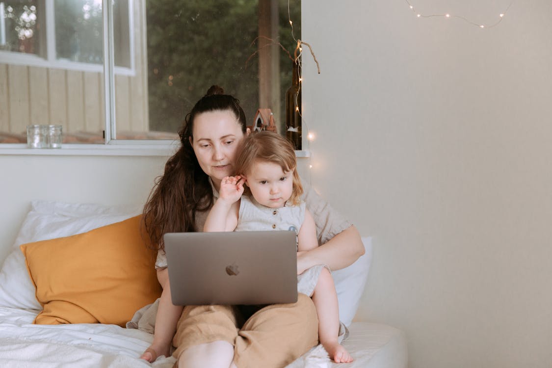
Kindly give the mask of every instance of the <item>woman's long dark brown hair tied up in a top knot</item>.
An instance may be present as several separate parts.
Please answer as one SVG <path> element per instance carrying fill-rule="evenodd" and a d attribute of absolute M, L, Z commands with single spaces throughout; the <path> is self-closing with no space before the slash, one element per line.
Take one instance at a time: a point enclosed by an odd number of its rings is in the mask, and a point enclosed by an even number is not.
<path fill-rule="evenodd" d="M 232 111 L 236 116 L 245 134 L 246 118 L 240 101 L 224 94 L 224 90 L 218 86 L 209 88 L 186 115 L 184 124 L 178 131 L 181 147 L 168 159 L 163 175 L 156 178 L 142 213 L 142 224 L 154 249 L 164 250 L 163 234 L 197 231 L 196 213 L 213 206 L 213 189 L 209 176 L 199 166 L 189 138 L 193 138 L 196 115 L 226 110 Z"/>

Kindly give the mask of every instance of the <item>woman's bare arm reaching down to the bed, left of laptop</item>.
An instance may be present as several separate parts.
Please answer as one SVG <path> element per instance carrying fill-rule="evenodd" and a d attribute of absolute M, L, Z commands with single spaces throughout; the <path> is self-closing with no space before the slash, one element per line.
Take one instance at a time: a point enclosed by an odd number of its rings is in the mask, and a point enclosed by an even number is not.
<path fill-rule="evenodd" d="M 171 286 L 167 269 L 157 271 L 157 279 L 163 287 L 159 308 L 155 316 L 155 330 L 153 332 L 153 343 L 142 353 L 140 359 L 153 362 L 158 356 L 169 356 L 171 353 L 171 342 L 176 332 L 176 324 L 182 314 L 182 306 L 175 306 L 171 300 Z M 153 354 L 153 352 L 155 354 Z"/>

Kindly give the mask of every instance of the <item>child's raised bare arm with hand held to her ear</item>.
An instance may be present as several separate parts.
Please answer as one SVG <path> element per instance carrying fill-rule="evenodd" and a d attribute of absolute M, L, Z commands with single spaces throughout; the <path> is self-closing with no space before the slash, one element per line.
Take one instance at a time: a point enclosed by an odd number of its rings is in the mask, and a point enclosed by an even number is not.
<path fill-rule="evenodd" d="M 203 231 L 233 231 L 238 221 L 240 198 L 243 194 L 243 179 L 225 177 L 221 180 L 219 199 L 209 211 Z"/>

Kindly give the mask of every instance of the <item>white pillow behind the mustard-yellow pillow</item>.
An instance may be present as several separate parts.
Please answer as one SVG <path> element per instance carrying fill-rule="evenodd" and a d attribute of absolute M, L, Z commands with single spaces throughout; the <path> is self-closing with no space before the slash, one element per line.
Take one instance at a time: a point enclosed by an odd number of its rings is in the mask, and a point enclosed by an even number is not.
<path fill-rule="evenodd" d="M 12 253 L 0 270 L 0 306 L 41 310 L 35 288 L 19 249 L 21 244 L 55 239 L 90 231 L 139 215 L 142 206 L 102 206 L 33 201 L 19 230 Z M 70 260 L 67 260 L 70 262 Z"/>

